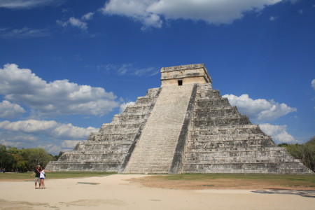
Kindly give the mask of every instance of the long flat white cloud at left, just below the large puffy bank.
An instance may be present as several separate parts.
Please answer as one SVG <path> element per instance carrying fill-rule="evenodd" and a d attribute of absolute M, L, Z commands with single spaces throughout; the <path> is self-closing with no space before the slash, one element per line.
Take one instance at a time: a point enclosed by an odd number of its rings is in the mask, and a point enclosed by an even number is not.
<path fill-rule="evenodd" d="M 91 132 L 97 132 L 94 127 L 76 127 L 69 124 L 57 123 L 55 120 L 20 120 L 0 122 L 0 129 L 22 132 L 26 134 L 42 134 L 46 137 L 85 139 Z"/>

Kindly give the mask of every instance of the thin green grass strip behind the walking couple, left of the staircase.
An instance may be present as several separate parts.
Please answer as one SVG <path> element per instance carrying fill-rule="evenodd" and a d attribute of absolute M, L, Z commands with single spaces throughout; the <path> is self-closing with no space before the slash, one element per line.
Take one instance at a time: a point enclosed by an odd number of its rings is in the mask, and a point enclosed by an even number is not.
<path fill-rule="evenodd" d="M 33 172 L 26 173 L 0 173 L 0 181 L 4 180 L 22 180 L 31 179 Z M 47 172 L 46 178 L 48 179 L 67 179 L 67 178 L 81 178 L 88 176 L 108 176 L 111 174 L 116 174 L 114 172 Z M 34 176 L 32 176 L 34 178 Z"/>

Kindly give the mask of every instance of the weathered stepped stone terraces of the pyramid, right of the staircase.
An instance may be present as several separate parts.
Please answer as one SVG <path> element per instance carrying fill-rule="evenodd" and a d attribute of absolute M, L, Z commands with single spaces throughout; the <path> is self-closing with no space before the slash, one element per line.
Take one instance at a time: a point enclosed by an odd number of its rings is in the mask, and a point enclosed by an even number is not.
<path fill-rule="evenodd" d="M 209 84 L 198 85 L 191 120 L 183 173 L 310 172 Z"/>

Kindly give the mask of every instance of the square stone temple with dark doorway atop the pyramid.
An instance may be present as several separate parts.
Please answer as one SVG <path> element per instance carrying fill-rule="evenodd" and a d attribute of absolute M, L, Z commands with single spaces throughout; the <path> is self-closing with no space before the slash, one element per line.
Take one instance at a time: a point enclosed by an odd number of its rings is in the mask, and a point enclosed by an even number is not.
<path fill-rule="evenodd" d="M 188 83 L 212 83 L 204 64 L 163 67 L 161 69 L 161 87 Z"/>

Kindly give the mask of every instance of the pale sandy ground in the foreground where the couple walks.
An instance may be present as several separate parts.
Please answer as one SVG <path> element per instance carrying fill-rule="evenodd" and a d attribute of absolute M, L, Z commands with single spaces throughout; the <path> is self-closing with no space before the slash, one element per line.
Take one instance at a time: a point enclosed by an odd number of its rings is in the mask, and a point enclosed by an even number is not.
<path fill-rule="evenodd" d="M 117 174 L 81 179 L 0 182 L 0 209 L 314 209 L 315 191 L 148 188 Z M 91 184 L 97 183 L 97 184 Z"/>

